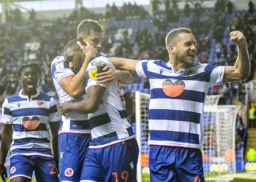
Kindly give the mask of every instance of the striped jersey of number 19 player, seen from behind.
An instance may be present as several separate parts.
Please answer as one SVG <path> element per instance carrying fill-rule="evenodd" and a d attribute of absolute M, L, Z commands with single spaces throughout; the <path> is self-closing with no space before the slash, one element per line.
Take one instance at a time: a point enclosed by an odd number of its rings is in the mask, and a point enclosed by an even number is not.
<path fill-rule="evenodd" d="M 87 68 L 86 90 L 89 87 L 99 85 L 95 79 L 89 76 L 90 71 L 95 69 L 94 63 L 98 61 L 102 61 L 114 68 L 108 58 L 100 56 L 91 60 Z M 100 86 L 104 87 L 103 85 Z M 127 120 L 125 106 L 120 97 L 123 93 L 122 87 L 118 82 L 111 84 L 106 88 L 102 96 L 102 103 L 99 109 L 94 114 L 89 114 L 92 138 L 89 148 L 102 148 L 134 138 L 132 126 Z"/>

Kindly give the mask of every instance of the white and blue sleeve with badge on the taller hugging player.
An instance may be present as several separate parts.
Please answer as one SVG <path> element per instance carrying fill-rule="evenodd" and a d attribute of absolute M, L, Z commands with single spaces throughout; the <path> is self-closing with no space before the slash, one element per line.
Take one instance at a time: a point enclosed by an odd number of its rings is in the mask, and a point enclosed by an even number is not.
<path fill-rule="evenodd" d="M 64 79 L 67 76 L 74 76 L 75 73 L 69 68 L 67 61 L 64 60 L 63 56 L 59 56 L 53 60 L 51 65 L 51 74 L 57 82 Z"/>

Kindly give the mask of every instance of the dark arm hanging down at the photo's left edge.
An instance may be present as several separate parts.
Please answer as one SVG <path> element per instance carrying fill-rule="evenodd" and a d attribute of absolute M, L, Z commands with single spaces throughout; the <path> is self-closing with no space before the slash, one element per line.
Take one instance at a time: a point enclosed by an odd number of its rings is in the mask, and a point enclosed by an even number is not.
<path fill-rule="evenodd" d="M 12 124 L 4 124 L 1 133 L 1 149 L 0 149 L 0 175 L 3 181 L 7 179 L 7 170 L 4 162 L 12 143 Z"/>

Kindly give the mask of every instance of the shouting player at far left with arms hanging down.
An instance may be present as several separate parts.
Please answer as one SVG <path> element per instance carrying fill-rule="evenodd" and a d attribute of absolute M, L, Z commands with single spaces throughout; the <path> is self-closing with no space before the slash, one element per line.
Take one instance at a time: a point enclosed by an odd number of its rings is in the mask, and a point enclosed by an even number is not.
<path fill-rule="evenodd" d="M 0 152 L 0 173 L 7 178 L 4 161 L 11 145 L 10 181 L 59 181 L 56 163 L 58 129 L 61 116 L 56 101 L 37 90 L 40 68 L 35 63 L 21 66 L 22 90 L 4 100 L 1 122 L 4 124 Z M 53 154 L 50 147 L 50 133 Z"/>

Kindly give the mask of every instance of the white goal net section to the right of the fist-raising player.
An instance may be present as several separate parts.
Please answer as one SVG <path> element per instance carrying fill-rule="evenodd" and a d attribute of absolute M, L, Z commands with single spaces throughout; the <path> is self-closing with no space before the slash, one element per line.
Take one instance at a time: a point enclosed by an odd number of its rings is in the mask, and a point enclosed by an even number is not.
<path fill-rule="evenodd" d="M 203 170 L 206 181 L 231 181 L 236 173 L 236 114 L 239 106 L 205 106 Z"/>

